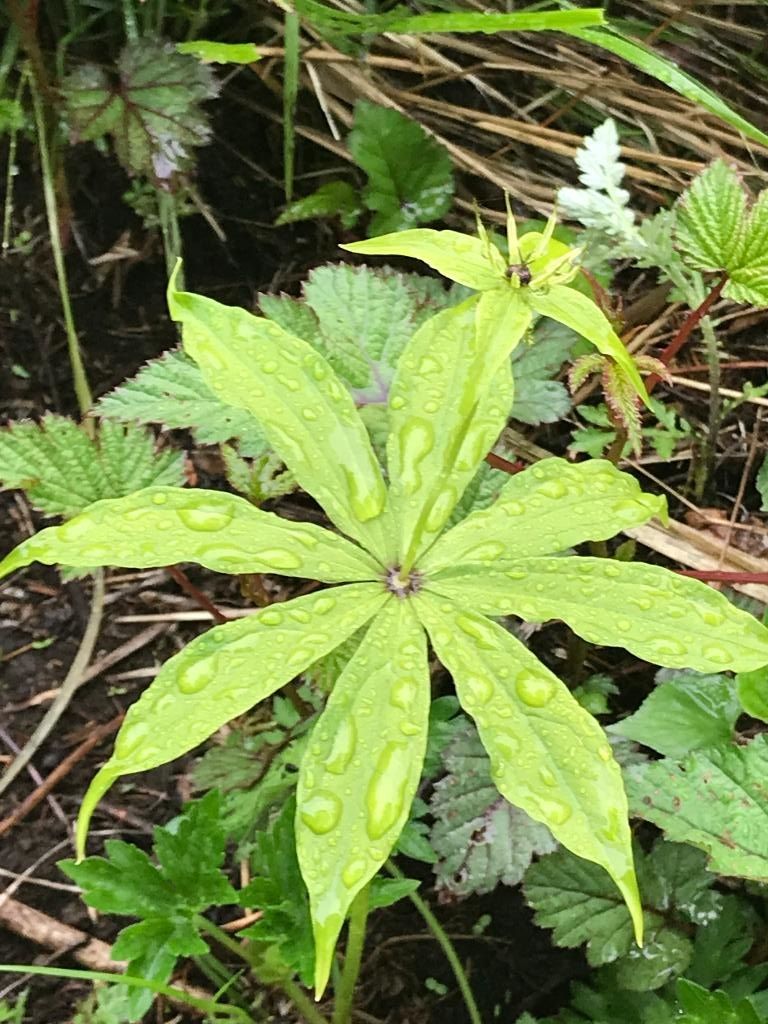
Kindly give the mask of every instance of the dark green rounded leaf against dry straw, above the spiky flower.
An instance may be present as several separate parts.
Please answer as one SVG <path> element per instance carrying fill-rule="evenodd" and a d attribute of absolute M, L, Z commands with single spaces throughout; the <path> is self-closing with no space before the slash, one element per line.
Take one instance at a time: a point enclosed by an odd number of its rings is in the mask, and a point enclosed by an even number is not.
<path fill-rule="evenodd" d="M 375 212 L 370 234 L 439 220 L 451 209 L 451 157 L 416 121 L 390 108 L 358 100 L 347 145 L 368 175 L 362 199 Z"/>

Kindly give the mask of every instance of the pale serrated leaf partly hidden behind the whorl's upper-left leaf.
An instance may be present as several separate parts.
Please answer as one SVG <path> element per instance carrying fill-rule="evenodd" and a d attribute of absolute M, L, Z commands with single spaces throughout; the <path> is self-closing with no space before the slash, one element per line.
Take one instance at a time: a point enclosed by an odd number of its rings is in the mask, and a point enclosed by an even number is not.
<path fill-rule="evenodd" d="M 160 423 L 191 430 L 201 444 L 237 439 L 244 456 L 260 455 L 266 447 L 256 417 L 221 401 L 197 364 L 181 351 L 172 350 L 147 362 L 133 380 L 104 395 L 96 412 L 124 423 Z"/>

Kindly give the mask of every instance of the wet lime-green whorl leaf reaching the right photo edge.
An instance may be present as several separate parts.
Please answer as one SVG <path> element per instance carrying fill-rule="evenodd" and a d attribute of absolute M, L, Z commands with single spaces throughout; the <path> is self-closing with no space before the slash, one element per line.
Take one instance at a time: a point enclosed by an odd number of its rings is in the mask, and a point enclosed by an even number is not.
<path fill-rule="evenodd" d="M 754 615 L 658 565 L 521 558 L 503 571 L 477 568 L 445 570 L 430 587 L 487 615 L 561 618 L 590 643 L 624 647 L 670 669 L 738 672 L 768 662 L 768 630 Z"/>

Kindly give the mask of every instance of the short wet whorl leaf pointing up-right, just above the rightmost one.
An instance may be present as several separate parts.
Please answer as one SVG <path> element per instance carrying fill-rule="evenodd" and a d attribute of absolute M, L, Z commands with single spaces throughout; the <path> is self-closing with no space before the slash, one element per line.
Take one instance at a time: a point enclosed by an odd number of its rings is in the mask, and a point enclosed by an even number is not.
<path fill-rule="evenodd" d="M 511 476 L 497 501 L 445 534 L 423 560 L 431 573 L 462 562 L 499 567 L 500 559 L 551 554 L 583 541 L 605 541 L 654 515 L 666 501 L 604 460 L 544 459 Z"/>

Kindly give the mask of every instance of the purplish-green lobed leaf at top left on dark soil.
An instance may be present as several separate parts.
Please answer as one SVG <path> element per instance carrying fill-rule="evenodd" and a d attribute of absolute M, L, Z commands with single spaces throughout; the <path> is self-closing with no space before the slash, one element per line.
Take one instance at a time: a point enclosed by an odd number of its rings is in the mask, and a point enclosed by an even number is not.
<path fill-rule="evenodd" d="M 201 103 L 218 93 L 210 70 L 172 43 L 140 39 L 118 58 L 119 83 L 83 65 L 61 83 L 66 118 L 77 139 L 111 135 L 132 175 L 167 181 L 191 166 L 193 151 L 211 137 Z"/>

